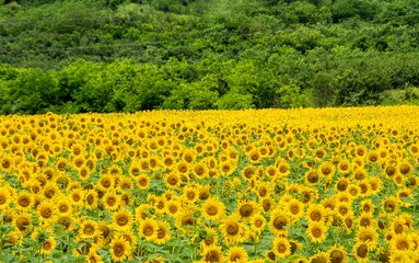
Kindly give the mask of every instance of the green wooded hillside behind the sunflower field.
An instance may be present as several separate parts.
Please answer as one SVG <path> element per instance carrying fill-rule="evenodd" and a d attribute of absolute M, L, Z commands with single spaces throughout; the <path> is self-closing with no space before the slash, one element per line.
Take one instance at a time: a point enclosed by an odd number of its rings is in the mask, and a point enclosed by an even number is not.
<path fill-rule="evenodd" d="M 0 113 L 417 103 L 417 0 L 0 0 Z"/>

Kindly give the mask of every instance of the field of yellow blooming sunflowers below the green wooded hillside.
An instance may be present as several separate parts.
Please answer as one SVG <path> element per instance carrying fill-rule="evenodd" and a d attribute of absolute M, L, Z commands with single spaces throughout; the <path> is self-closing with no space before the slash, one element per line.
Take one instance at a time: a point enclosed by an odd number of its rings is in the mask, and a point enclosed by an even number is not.
<path fill-rule="evenodd" d="M 1 262 L 419 262 L 419 107 L 0 117 Z"/>

